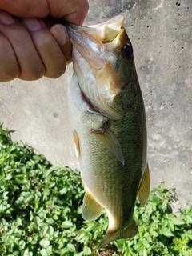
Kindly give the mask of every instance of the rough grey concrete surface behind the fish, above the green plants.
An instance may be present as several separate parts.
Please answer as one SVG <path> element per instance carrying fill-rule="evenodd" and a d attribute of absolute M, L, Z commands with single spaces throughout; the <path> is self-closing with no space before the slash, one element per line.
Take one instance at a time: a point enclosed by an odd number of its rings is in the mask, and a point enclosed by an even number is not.
<path fill-rule="evenodd" d="M 146 105 L 152 187 L 165 181 L 182 206 L 192 204 L 191 0 L 90 0 L 85 24 L 125 16 Z M 79 168 L 67 110 L 72 67 L 57 80 L 0 83 L 0 122 L 13 140 L 50 162 Z"/>

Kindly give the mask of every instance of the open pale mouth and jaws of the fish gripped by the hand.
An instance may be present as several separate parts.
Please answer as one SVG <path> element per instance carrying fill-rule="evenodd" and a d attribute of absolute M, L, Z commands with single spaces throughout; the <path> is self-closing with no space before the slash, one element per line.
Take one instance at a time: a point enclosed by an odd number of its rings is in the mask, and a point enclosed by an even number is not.
<path fill-rule="evenodd" d="M 66 22 L 66 29 L 74 48 L 91 66 L 101 69 L 106 65 L 104 51 L 110 52 L 118 46 L 118 35 L 122 33 L 123 21 L 123 16 L 119 15 L 93 26 L 77 26 Z"/>

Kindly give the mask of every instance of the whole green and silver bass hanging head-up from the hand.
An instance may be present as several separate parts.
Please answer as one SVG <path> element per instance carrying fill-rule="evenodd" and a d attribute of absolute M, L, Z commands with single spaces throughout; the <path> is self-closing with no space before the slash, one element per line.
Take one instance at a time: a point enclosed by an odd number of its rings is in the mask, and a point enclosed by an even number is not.
<path fill-rule="evenodd" d="M 74 74 L 69 110 L 85 194 L 82 217 L 106 210 L 109 226 L 98 249 L 138 233 L 134 206 L 150 193 L 146 114 L 134 50 L 118 15 L 93 26 L 66 23 Z"/>

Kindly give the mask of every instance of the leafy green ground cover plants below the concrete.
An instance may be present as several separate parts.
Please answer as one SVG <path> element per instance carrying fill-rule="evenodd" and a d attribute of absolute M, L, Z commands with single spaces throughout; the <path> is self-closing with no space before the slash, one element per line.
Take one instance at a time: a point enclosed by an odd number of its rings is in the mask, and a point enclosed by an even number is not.
<path fill-rule="evenodd" d="M 41 154 L 12 142 L 0 127 L 0 255 L 192 256 L 192 208 L 172 213 L 173 190 L 158 186 L 146 207 L 136 203 L 138 234 L 97 250 L 106 214 L 85 222 L 78 170 L 52 166 Z"/>

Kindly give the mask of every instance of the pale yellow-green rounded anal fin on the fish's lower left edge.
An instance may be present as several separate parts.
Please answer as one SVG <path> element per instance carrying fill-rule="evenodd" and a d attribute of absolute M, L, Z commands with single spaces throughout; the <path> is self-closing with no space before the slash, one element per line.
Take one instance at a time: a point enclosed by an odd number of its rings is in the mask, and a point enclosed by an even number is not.
<path fill-rule="evenodd" d="M 86 190 L 82 204 L 82 218 L 85 220 L 95 220 L 101 214 L 102 206 L 95 201 L 93 195 L 90 194 L 90 191 Z"/>

